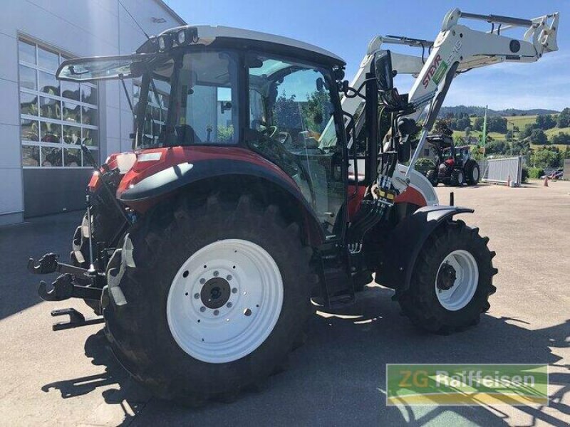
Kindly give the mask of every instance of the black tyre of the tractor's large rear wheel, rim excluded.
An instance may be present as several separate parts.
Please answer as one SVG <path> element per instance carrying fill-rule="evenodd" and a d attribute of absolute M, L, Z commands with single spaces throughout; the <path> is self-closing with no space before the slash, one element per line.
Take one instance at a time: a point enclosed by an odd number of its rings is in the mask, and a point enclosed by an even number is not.
<path fill-rule="evenodd" d="M 127 304 L 115 301 L 113 292 L 103 297 L 108 339 L 121 364 L 155 396 L 189 406 L 232 400 L 282 370 L 291 349 L 303 342 L 314 312 L 312 249 L 303 245 L 298 224 L 286 224 L 276 206 L 264 208 L 249 196 L 233 202 L 209 196 L 199 204 L 181 198 L 162 207 L 125 239 L 125 248 L 132 242 L 136 267 L 129 266 L 123 249 L 124 274 L 116 279 Z M 283 279 L 283 305 L 274 329 L 257 349 L 232 362 L 207 363 L 191 357 L 172 337 L 167 295 L 190 255 L 226 238 L 257 243 L 274 258 Z M 110 282 L 118 271 L 113 264 L 117 266 L 115 257 L 108 270 Z"/>

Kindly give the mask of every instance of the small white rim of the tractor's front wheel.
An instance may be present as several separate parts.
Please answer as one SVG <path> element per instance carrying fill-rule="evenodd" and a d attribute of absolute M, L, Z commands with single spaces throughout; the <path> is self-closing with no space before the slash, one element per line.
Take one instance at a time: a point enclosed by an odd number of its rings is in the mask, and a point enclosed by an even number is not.
<path fill-rule="evenodd" d="M 451 288 L 442 290 L 437 287 L 437 279 L 440 276 L 442 265 L 448 264 L 455 269 L 455 281 Z M 472 300 L 479 283 L 479 268 L 477 261 L 471 253 L 462 249 L 453 251 L 447 255 L 435 277 L 435 295 L 442 307 L 446 310 L 461 310 Z"/>

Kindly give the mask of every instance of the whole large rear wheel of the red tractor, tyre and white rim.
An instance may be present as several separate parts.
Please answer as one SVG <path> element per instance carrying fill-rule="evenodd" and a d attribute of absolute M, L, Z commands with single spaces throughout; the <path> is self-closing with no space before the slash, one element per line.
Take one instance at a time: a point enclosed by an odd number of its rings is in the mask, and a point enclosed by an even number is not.
<path fill-rule="evenodd" d="M 304 334 L 312 251 L 296 223 L 249 196 L 162 207 L 110 261 L 113 351 L 159 397 L 233 399 L 279 371 Z"/>

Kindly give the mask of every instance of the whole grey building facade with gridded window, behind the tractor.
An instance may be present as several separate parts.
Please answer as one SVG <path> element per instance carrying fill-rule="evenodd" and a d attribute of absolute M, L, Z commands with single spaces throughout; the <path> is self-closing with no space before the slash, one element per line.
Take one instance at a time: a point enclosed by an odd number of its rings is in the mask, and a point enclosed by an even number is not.
<path fill-rule="evenodd" d="M 60 82 L 59 64 L 132 53 L 146 38 L 138 25 L 152 35 L 185 23 L 160 0 L 11 0 L 3 11 L 0 225 L 84 206 L 92 169 L 81 141 L 99 162 L 130 149 L 120 82 Z"/>

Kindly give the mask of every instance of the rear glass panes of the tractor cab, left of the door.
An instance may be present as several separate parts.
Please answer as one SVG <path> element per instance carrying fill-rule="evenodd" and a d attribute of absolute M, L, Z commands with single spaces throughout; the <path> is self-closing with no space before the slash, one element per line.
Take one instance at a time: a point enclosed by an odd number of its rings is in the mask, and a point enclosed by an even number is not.
<path fill-rule="evenodd" d="M 147 70 L 135 91 L 136 146 L 237 143 L 237 55 L 179 53 Z"/>

